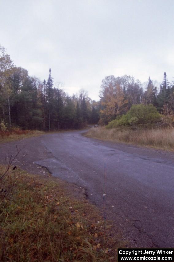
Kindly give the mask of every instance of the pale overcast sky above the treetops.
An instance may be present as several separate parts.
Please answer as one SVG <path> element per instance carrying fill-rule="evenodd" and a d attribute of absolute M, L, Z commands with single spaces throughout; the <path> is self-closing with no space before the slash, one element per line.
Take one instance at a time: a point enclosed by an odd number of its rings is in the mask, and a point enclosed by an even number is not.
<path fill-rule="evenodd" d="M 0 44 L 31 76 L 98 100 L 105 76 L 174 77 L 174 0 L 0 0 Z"/>

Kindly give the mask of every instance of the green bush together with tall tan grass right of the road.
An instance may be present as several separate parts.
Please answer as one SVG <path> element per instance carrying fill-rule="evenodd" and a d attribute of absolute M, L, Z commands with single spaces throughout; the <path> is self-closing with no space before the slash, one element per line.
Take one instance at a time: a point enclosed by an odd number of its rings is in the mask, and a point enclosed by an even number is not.
<path fill-rule="evenodd" d="M 167 106 L 159 114 L 152 104 L 140 104 L 105 127 L 91 128 L 86 136 L 174 151 L 173 124 L 174 115 Z"/>

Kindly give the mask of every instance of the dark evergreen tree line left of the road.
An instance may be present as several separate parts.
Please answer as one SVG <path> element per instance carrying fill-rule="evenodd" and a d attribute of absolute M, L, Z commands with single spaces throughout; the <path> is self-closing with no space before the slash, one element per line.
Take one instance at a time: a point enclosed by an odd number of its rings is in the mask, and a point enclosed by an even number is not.
<path fill-rule="evenodd" d="M 43 82 L 28 71 L 14 66 L 0 46 L 0 122 L 22 129 L 79 129 L 99 121 L 98 104 L 80 90 L 68 96 L 58 83 L 55 87 L 49 69 Z"/>

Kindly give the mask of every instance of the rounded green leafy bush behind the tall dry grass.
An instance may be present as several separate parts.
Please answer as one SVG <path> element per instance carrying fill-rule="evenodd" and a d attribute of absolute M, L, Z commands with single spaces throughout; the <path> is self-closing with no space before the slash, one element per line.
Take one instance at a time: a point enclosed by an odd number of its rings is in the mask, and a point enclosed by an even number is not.
<path fill-rule="evenodd" d="M 134 104 L 126 115 L 122 115 L 120 119 L 115 119 L 108 123 L 107 128 L 113 128 L 124 125 L 156 123 L 161 119 L 157 108 L 153 104 Z"/>

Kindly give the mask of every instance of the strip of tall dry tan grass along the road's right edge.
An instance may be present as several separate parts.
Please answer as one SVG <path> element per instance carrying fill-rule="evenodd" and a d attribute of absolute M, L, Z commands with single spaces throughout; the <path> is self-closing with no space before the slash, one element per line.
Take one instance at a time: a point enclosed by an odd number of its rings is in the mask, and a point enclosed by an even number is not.
<path fill-rule="evenodd" d="M 174 128 L 157 129 L 106 129 L 105 127 L 91 128 L 88 137 L 124 142 L 135 145 L 145 145 L 164 150 L 174 150 Z"/>

